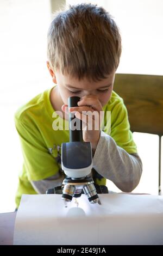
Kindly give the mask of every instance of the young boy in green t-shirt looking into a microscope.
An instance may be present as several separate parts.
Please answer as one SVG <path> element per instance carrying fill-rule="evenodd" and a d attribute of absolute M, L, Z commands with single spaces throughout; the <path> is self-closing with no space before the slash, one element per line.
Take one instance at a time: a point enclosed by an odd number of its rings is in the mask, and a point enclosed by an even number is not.
<path fill-rule="evenodd" d="M 19 176 L 16 205 L 21 195 L 45 193 L 61 186 L 61 143 L 69 141 L 66 130 L 67 99 L 79 96 L 78 107 L 69 109 L 86 125 L 83 111 L 111 111 L 111 127 L 83 129 L 91 142 L 92 175 L 96 184 L 106 179 L 125 192 L 139 184 L 142 163 L 123 100 L 112 89 L 121 56 L 121 36 L 111 16 L 92 4 L 79 4 L 57 14 L 48 30 L 47 67 L 55 86 L 37 95 L 15 114 L 22 144 L 23 169 Z M 54 129 L 55 112 L 64 130 Z"/>

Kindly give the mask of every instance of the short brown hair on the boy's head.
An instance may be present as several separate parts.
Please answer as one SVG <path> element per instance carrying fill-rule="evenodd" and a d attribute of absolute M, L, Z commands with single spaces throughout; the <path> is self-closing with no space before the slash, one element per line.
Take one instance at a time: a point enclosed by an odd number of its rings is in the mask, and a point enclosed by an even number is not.
<path fill-rule="evenodd" d="M 118 27 L 102 7 L 78 4 L 55 14 L 47 38 L 47 58 L 54 71 L 99 81 L 117 69 L 120 56 Z"/>

